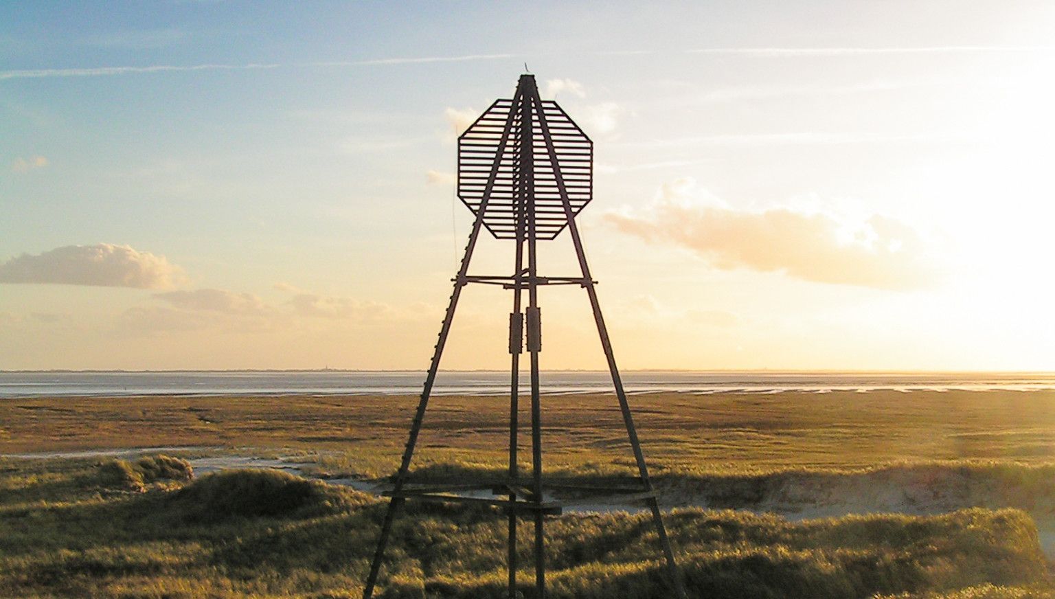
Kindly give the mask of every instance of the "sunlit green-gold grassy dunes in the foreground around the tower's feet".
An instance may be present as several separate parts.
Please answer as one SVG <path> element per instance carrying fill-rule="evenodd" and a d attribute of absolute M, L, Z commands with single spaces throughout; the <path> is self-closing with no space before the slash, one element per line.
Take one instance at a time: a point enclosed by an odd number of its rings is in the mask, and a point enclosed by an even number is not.
<path fill-rule="evenodd" d="M 103 467 L 92 460 L 0 460 L 0 596 L 362 592 L 384 508 L 370 496 L 271 470 L 108 494 L 99 489 L 112 481 L 100 476 Z M 114 484 L 112 490 L 123 489 L 122 481 Z M 382 597 L 501 597 L 499 514 L 415 503 L 406 509 L 394 528 Z M 1050 588 L 1036 528 L 1013 509 L 799 523 L 678 509 L 667 523 L 694 597 L 868 597 L 986 584 L 1004 594 L 977 597 L 1017 597 L 1010 594 L 1016 587 Z M 530 539 L 530 526 L 520 534 Z M 669 594 L 645 515 L 565 515 L 550 519 L 546 535 L 554 598 Z M 530 573 L 520 580 L 530 596 Z"/>

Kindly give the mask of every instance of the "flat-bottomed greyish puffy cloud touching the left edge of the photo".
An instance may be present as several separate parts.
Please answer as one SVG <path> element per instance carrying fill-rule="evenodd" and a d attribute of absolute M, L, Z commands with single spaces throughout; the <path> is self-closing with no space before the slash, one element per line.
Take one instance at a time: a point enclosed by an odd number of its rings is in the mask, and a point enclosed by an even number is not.
<path fill-rule="evenodd" d="M 0 283 L 166 289 L 180 278 L 183 271 L 165 256 L 113 244 L 64 246 L 0 264 Z"/>

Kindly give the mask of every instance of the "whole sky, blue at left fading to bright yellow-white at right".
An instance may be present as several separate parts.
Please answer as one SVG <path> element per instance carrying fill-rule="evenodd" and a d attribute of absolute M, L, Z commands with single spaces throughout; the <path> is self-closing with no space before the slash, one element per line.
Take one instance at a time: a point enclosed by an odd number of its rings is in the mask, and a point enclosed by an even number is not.
<path fill-rule="evenodd" d="M 424 369 L 457 135 L 594 140 L 622 368 L 1055 370 L 1050 1 L 0 4 L 0 369 Z M 471 273 L 509 274 L 481 239 Z M 576 275 L 568 234 L 541 274 Z M 507 367 L 469 286 L 441 366 Z M 605 361 L 542 290 L 546 369 Z"/>

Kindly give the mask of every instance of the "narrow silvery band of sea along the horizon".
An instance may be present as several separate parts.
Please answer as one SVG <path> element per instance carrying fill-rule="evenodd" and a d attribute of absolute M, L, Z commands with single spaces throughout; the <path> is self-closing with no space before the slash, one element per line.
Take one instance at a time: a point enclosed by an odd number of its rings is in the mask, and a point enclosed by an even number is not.
<path fill-rule="evenodd" d="M 629 370 L 629 393 L 780 393 L 1055 389 L 1055 372 L 778 372 Z M 554 370 L 540 375 L 546 394 L 611 391 L 607 371 Z M 166 370 L 0 371 L 0 398 L 141 395 L 419 394 L 425 372 L 414 370 Z M 520 373 L 521 392 L 528 375 Z M 434 394 L 501 395 L 510 373 L 441 371 Z"/>

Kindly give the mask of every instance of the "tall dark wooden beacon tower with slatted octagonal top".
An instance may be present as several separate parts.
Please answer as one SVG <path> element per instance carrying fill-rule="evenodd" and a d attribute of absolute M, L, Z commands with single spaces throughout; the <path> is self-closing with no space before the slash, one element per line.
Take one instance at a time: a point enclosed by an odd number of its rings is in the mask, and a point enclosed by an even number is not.
<path fill-rule="evenodd" d="M 363 592 L 370 599 L 378 580 L 385 545 L 392 520 L 407 500 L 434 502 L 467 502 L 493 505 L 509 516 L 509 597 L 517 597 L 517 518 L 534 519 L 534 597 L 545 597 L 544 517 L 559 515 L 561 508 L 577 503 L 596 503 L 619 498 L 621 501 L 645 502 L 652 511 L 672 588 L 684 597 L 682 579 L 674 562 L 670 540 L 659 513 L 656 492 L 652 488 L 645 456 L 634 428 L 627 393 L 615 364 L 612 344 L 597 303 L 596 282 L 582 250 L 582 240 L 575 216 L 593 196 L 593 141 L 555 101 L 542 100 L 534 75 L 522 75 L 512 99 L 496 100 L 458 138 L 458 196 L 473 212 L 475 219 L 468 245 L 454 278 L 454 292 L 440 328 L 439 341 L 433 353 L 424 389 L 418 404 L 410 434 L 399 470 L 392 478 L 391 499 L 381 525 L 377 549 Z M 514 241 L 513 274 L 507 276 L 471 275 L 469 262 L 482 230 L 499 239 Z M 578 257 L 579 274 L 574 276 L 540 276 L 536 265 L 536 245 L 555 238 L 568 229 Z M 510 314 L 510 443 L 506 478 L 491 481 L 408 482 L 407 475 L 414 457 L 418 433 L 428 406 L 428 399 L 440 367 L 455 308 L 462 289 L 468 284 L 498 285 L 513 291 Z M 539 393 L 539 352 L 542 350 L 539 287 L 577 285 L 586 289 L 593 309 L 601 349 L 612 374 L 615 395 L 630 438 L 637 464 L 637 477 L 631 484 L 619 486 L 574 485 L 548 483 L 542 476 L 542 406 Z M 526 307 L 524 292 L 526 291 Z M 520 400 L 520 356 L 524 341 L 531 372 L 531 434 L 532 471 L 520 472 L 517 463 Z M 469 491 L 491 490 L 493 498 L 469 496 Z M 561 499 L 548 499 L 548 491 L 558 491 Z"/>

